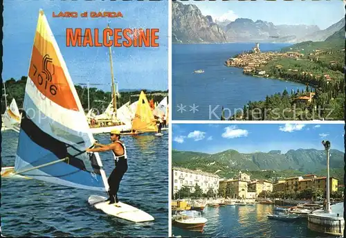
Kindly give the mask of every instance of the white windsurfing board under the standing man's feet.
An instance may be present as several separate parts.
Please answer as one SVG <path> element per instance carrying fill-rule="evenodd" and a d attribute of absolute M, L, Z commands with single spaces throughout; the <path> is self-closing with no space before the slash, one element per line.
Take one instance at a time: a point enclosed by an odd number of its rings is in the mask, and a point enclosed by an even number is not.
<path fill-rule="evenodd" d="M 104 213 L 110 214 L 111 216 L 125 219 L 127 221 L 133 222 L 144 222 L 144 221 L 154 221 L 152 215 L 143 212 L 138 208 L 134 208 L 131 205 L 126 203 L 119 202 L 119 207 L 116 207 L 114 204 L 108 204 L 106 202 L 107 198 L 104 196 L 91 195 L 89 196 L 88 202 L 90 205 L 93 205 L 94 208 L 102 210 Z"/>

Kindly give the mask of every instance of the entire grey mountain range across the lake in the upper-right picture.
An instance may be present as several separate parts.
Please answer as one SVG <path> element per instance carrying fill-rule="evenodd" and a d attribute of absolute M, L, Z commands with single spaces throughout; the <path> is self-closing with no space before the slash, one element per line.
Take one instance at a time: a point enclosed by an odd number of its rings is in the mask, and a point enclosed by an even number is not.
<path fill-rule="evenodd" d="M 173 43 L 321 42 L 345 26 L 345 18 L 321 30 L 313 25 L 274 25 L 268 21 L 238 18 L 218 21 L 203 16 L 193 4 L 172 2 Z"/>

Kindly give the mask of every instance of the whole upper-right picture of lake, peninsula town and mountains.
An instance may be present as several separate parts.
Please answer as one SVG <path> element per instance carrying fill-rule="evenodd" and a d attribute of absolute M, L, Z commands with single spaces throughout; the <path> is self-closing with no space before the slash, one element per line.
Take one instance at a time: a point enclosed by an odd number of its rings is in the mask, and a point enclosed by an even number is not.
<path fill-rule="evenodd" d="M 173 1 L 172 118 L 343 120 L 344 28 L 343 1 Z"/>

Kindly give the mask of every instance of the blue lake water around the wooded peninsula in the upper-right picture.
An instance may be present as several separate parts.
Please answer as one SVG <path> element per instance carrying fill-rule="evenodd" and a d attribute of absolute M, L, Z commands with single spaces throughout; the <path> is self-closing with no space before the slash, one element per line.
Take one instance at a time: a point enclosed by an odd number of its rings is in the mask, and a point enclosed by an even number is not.
<path fill-rule="evenodd" d="M 219 120 L 221 107 L 243 109 L 249 101 L 264 100 L 266 95 L 286 89 L 305 89 L 303 84 L 285 80 L 253 77 L 242 68 L 224 63 L 254 44 L 173 44 L 172 45 L 172 118 L 174 120 Z M 289 44 L 260 44 L 261 51 L 280 51 Z M 204 73 L 193 73 L 203 69 Z M 178 111 L 183 105 L 185 111 Z M 178 107 L 179 105 L 179 107 Z M 198 111 L 192 111 L 193 105 Z M 214 113 L 215 114 L 214 114 Z M 216 115 L 216 116 L 215 116 Z M 229 115 L 226 115 L 228 117 Z"/>

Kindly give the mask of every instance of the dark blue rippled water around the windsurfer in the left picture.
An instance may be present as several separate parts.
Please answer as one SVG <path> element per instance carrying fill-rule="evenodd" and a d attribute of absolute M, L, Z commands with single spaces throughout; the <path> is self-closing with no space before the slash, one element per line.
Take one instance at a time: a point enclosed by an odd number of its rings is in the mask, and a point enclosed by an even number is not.
<path fill-rule="evenodd" d="M 110 217 L 87 202 L 91 194 L 43 181 L 1 179 L 1 230 L 5 236 L 168 236 L 168 134 L 123 136 L 129 169 L 122 178 L 120 201 L 151 214 L 155 221 L 132 223 Z M 110 143 L 108 135 L 96 135 Z M 18 134 L 2 133 L 2 166 L 13 166 Z M 111 152 L 100 154 L 107 175 L 113 170 Z"/>

